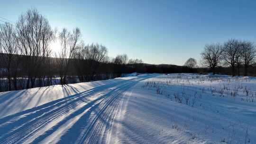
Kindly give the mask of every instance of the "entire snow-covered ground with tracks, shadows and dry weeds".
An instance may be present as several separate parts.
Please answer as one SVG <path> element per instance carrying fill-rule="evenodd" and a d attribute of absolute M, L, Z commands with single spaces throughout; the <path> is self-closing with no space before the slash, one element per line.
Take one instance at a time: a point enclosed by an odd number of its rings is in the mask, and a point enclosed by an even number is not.
<path fill-rule="evenodd" d="M 256 78 L 132 74 L 0 93 L 0 144 L 256 144 Z"/>

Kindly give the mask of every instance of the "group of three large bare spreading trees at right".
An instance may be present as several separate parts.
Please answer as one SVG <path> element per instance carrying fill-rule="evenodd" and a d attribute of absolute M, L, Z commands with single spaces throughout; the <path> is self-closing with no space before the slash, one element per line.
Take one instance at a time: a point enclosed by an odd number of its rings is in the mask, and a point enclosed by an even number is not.
<path fill-rule="evenodd" d="M 213 74 L 218 66 L 231 67 L 232 76 L 240 73 L 244 67 L 244 76 L 247 76 L 248 67 L 255 63 L 256 47 L 252 42 L 230 39 L 224 44 L 205 45 L 201 53 L 201 63 L 211 69 Z"/>

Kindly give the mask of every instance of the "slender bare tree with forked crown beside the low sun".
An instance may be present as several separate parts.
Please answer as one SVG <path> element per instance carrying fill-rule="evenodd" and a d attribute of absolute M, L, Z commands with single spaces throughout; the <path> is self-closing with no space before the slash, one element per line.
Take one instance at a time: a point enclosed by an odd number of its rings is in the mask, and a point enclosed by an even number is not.
<path fill-rule="evenodd" d="M 76 49 L 79 48 L 81 40 L 81 31 L 79 28 L 75 28 L 73 33 L 63 28 L 59 34 L 59 40 L 61 44 L 60 51 L 55 54 L 58 63 L 59 75 L 61 78 L 61 84 L 66 84 L 66 77 L 68 72 L 69 63 Z"/>

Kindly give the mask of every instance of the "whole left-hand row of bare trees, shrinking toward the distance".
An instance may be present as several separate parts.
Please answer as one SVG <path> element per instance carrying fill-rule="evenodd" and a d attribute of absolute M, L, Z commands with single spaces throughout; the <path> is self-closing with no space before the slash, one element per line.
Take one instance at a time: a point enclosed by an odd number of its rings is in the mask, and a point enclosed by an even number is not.
<path fill-rule="evenodd" d="M 60 42 L 60 50 L 53 53 L 51 43 L 55 41 Z M 119 68 L 128 63 L 142 63 L 128 60 L 126 54 L 111 59 L 107 53 L 104 45 L 84 45 L 79 28 L 57 32 L 37 9 L 29 9 L 15 24 L 0 24 L 0 86 L 19 90 L 52 85 L 55 76 L 60 84 L 77 76 L 80 81 L 91 81 L 96 80 L 95 75 L 118 76 L 123 72 Z M 8 84 L 1 85 L 5 81 Z"/>

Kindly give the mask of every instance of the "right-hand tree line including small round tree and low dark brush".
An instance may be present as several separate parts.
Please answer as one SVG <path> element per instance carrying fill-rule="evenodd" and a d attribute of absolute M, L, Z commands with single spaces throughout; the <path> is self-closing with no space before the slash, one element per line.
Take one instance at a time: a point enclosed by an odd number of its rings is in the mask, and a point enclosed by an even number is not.
<path fill-rule="evenodd" d="M 198 73 L 256 76 L 256 45 L 250 41 L 230 39 L 223 44 L 205 45 L 201 52 L 201 67 L 194 58 L 184 66 Z"/>

